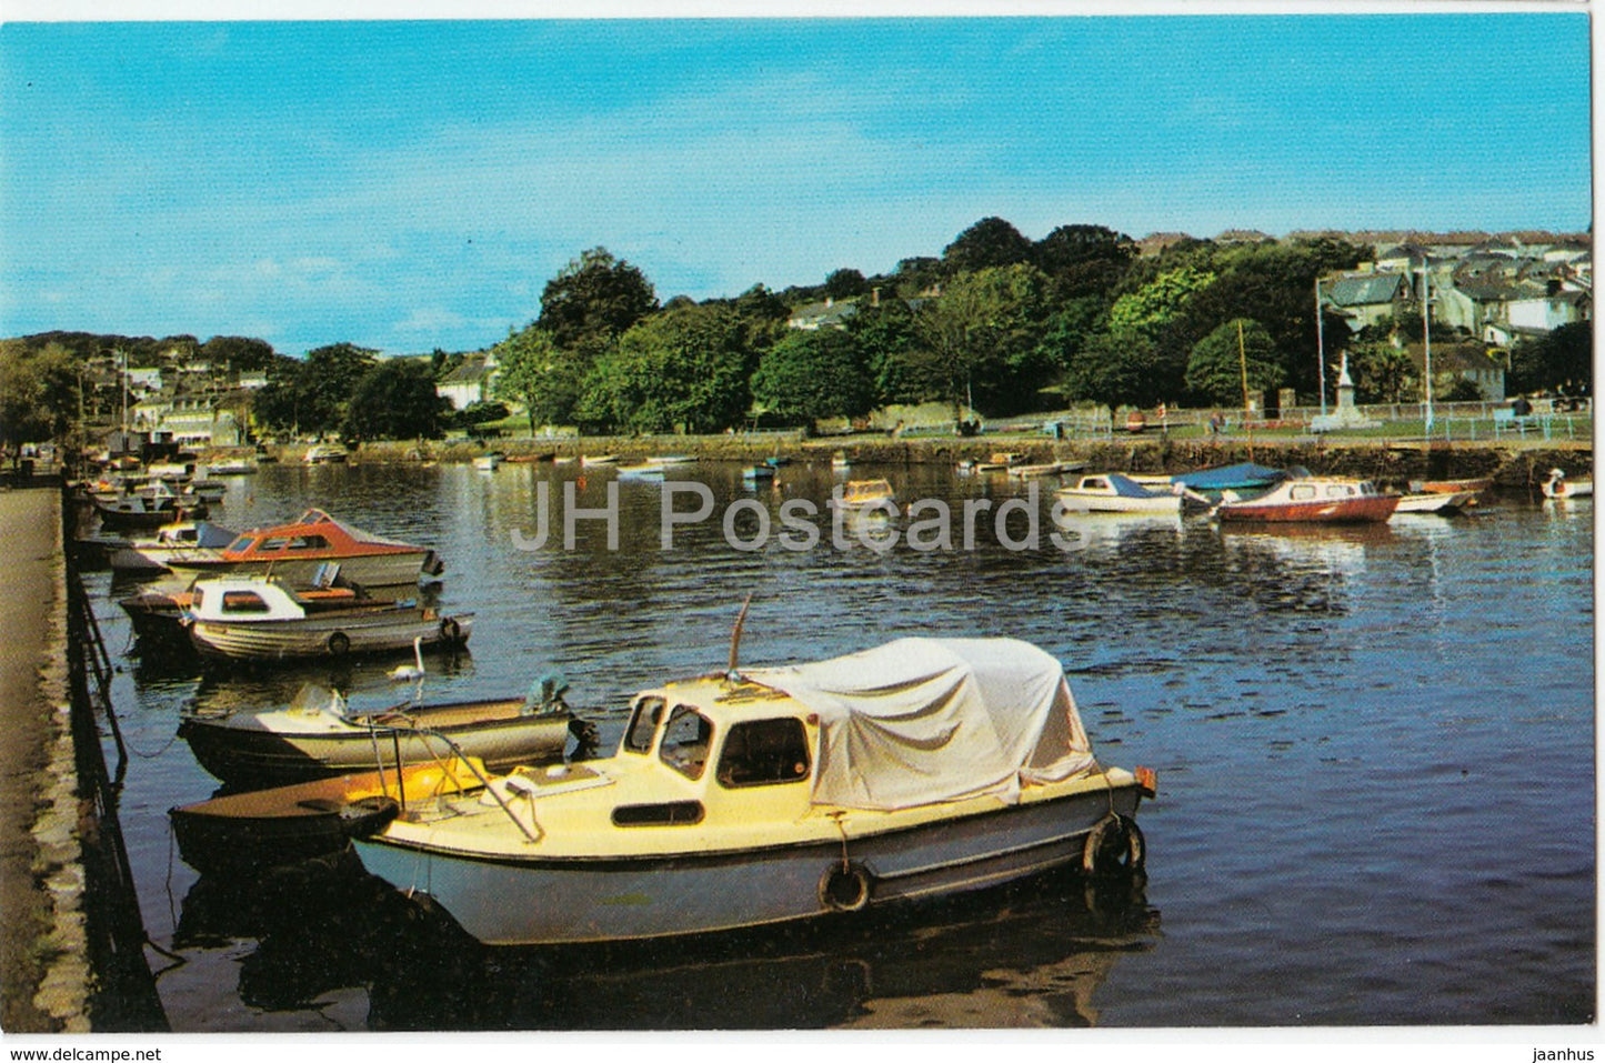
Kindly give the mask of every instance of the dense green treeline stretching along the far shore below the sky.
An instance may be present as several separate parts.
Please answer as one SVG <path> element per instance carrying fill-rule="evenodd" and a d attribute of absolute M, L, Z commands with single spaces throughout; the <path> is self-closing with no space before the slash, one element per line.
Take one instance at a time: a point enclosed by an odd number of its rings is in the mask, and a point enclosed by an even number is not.
<path fill-rule="evenodd" d="M 6 340 L 6 353 L 37 361 L 35 384 L 61 392 L 63 352 L 116 348 L 138 368 L 180 350 L 213 374 L 266 373 L 254 397 L 258 426 L 355 438 L 432 437 L 504 416 L 502 403 L 522 405 L 531 429 L 586 432 L 796 426 L 924 401 L 949 403 L 955 417 L 1075 403 L 1236 406 L 1244 369 L 1250 389 L 1318 392 L 1314 281 L 1369 257 L 1339 238 L 1181 239 L 1138 255 L 1130 236 L 1104 226 L 1064 225 L 1032 241 L 989 217 L 941 255 L 891 273 L 838 268 L 812 287 L 758 284 L 733 299 L 660 305 L 640 268 L 595 247 L 546 283 L 528 326 L 485 352 L 498 365 L 496 393 L 457 414 L 433 382 L 462 355 L 440 350 L 377 360 L 342 342 L 287 358 L 244 337 L 53 332 Z M 822 316 L 819 328 L 788 326 L 802 308 Z M 1361 401 L 1419 393 L 1409 358 L 1388 342 L 1409 320 L 1351 336 L 1329 313 L 1319 328 L 1329 373 L 1337 352 L 1350 352 Z M 1587 324 L 1557 329 L 1514 352 L 1509 387 L 1586 381 L 1589 352 Z"/>

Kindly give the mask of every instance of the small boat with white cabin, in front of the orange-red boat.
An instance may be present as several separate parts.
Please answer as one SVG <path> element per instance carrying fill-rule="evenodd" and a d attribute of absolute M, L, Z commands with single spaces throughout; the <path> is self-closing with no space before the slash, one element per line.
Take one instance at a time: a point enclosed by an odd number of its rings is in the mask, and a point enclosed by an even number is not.
<path fill-rule="evenodd" d="M 268 576 L 199 580 L 183 623 L 202 657 L 294 660 L 393 654 L 409 646 L 462 646 L 473 613 L 441 613 L 414 602 L 356 601 L 343 609 L 310 609 Z"/>

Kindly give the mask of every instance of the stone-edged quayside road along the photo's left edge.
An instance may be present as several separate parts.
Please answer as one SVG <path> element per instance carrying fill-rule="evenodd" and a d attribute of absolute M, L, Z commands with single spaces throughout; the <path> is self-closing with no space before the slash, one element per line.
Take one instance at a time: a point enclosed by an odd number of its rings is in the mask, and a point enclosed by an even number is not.
<path fill-rule="evenodd" d="M 0 1029 L 82 1029 L 87 968 L 75 936 L 75 830 L 63 629 L 61 495 L 0 490 Z M 63 777 L 63 768 L 67 777 Z"/>

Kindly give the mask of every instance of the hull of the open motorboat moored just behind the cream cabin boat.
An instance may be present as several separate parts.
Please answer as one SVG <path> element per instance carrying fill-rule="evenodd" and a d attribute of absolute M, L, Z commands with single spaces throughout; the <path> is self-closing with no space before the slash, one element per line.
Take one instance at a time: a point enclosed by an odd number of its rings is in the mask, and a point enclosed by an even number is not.
<path fill-rule="evenodd" d="M 379 764 L 395 771 L 398 763 L 432 764 L 453 751 L 491 771 L 562 758 L 573 716 L 522 713 L 522 698 L 425 705 L 388 723 L 376 721 L 372 729 L 327 731 L 266 731 L 252 727 L 250 715 L 188 716 L 178 737 L 209 774 L 228 784 L 300 782 Z"/>

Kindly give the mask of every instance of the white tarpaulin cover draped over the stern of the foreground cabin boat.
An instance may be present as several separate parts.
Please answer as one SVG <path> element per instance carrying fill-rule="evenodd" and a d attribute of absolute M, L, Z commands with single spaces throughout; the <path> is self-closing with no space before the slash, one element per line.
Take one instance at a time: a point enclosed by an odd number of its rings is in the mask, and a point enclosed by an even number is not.
<path fill-rule="evenodd" d="M 897 639 L 743 676 L 819 715 L 817 804 L 1018 800 L 1021 782 L 1093 766 L 1064 670 L 1018 639 Z"/>

